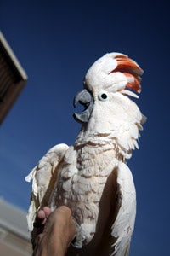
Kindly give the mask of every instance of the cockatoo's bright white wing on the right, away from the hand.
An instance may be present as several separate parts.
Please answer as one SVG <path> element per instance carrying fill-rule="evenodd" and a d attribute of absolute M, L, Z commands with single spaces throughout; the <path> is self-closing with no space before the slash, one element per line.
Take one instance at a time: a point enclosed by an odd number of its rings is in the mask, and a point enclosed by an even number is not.
<path fill-rule="evenodd" d="M 127 256 L 133 235 L 136 216 L 136 191 L 133 176 L 124 163 L 119 163 L 117 170 L 118 204 L 119 210 L 112 225 L 111 235 L 116 238 L 112 255 Z"/>

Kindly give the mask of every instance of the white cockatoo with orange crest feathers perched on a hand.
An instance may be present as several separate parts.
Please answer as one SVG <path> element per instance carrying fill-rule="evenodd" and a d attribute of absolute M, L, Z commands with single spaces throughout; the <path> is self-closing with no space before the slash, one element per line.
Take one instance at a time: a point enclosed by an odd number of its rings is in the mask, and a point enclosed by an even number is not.
<path fill-rule="evenodd" d="M 71 208 L 77 237 L 67 255 L 127 256 L 136 215 L 136 192 L 126 160 L 139 148 L 144 115 L 132 101 L 141 90 L 139 65 L 121 53 L 105 54 L 89 68 L 74 105 L 82 124 L 72 146 L 48 150 L 26 177 L 32 180 L 27 220 L 37 211 Z"/>

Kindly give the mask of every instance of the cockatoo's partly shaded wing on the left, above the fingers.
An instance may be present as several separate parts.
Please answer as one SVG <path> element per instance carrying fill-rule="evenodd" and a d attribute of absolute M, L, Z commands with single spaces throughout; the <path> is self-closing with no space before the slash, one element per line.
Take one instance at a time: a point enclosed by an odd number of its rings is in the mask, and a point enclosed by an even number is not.
<path fill-rule="evenodd" d="M 69 147 L 59 144 L 48 150 L 38 162 L 30 174 L 26 177 L 27 182 L 32 180 L 31 204 L 27 214 L 28 228 L 33 230 L 33 223 L 38 209 L 48 206 L 49 197 L 54 189 L 57 178 L 59 163 L 63 160 L 65 151 Z"/>

